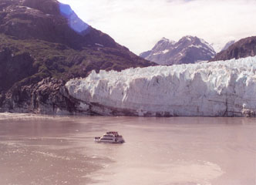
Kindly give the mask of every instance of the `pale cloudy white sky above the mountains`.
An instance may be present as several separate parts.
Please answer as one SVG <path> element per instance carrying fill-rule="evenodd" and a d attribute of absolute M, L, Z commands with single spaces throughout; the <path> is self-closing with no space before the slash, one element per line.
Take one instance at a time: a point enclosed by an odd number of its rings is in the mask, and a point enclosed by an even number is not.
<path fill-rule="evenodd" d="M 197 36 L 216 48 L 256 35 L 256 0 L 59 0 L 137 55 L 161 38 Z"/>

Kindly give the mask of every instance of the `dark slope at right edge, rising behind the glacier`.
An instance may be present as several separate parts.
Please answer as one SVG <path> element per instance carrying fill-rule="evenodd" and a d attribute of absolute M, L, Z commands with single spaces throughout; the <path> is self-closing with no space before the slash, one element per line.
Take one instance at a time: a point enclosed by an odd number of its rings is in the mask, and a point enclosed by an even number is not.
<path fill-rule="evenodd" d="M 217 53 L 211 61 L 241 59 L 256 55 L 256 36 L 241 39 L 229 46 L 228 49 Z"/>

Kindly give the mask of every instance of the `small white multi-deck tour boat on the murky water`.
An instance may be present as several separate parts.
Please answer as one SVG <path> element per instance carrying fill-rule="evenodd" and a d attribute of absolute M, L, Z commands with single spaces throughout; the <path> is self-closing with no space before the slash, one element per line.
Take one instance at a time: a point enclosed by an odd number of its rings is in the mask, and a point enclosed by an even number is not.
<path fill-rule="evenodd" d="M 124 143 L 123 136 L 118 132 L 106 132 L 101 137 L 95 137 L 94 141 L 97 143 Z"/>

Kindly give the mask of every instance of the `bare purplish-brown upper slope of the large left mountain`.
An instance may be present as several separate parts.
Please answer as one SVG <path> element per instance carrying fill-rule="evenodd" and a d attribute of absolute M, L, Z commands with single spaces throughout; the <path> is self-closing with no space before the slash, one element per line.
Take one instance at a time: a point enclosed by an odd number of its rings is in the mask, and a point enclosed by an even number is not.
<path fill-rule="evenodd" d="M 83 22 L 69 5 L 56 0 L 1 0 L 0 32 L 17 39 L 39 39 L 72 49 L 105 45 L 121 48 L 109 37 Z"/>

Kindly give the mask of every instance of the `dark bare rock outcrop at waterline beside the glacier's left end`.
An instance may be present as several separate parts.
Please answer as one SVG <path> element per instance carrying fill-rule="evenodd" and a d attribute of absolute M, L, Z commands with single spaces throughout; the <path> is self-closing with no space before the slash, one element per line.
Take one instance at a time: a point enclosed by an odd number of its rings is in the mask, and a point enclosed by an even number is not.
<path fill-rule="evenodd" d="M 13 87 L 2 99 L 1 112 L 40 113 L 57 115 L 93 115 L 81 103 L 69 96 L 61 79 L 45 78 L 28 86 Z M 0 97 L 1 105 L 1 97 Z"/>

